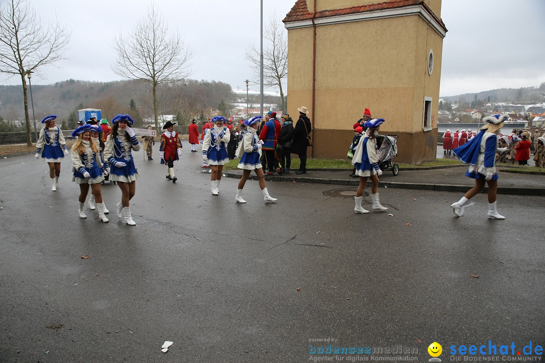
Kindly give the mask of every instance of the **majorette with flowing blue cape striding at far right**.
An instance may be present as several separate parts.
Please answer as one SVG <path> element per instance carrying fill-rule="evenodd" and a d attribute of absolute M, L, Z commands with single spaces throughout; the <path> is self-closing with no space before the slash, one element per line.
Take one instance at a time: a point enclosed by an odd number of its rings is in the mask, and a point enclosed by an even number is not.
<path fill-rule="evenodd" d="M 465 195 L 451 205 L 452 211 L 457 217 L 462 217 L 464 208 L 470 206 L 467 202 L 473 196 L 480 193 L 488 183 L 488 218 L 505 219 L 496 210 L 496 192 L 498 191 L 498 173 L 495 167 L 496 147 L 498 147 L 498 132 L 504 126 L 508 115 L 493 115 L 482 119 L 485 126 L 477 136 L 471 138 L 468 143 L 452 150 L 463 163 L 470 164 L 465 176 L 475 179 L 475 186 Z"/>

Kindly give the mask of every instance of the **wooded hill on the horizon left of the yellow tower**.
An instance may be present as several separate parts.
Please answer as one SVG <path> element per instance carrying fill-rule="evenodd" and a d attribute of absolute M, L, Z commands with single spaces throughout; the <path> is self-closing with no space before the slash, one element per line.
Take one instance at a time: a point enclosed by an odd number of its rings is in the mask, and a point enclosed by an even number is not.
<path fill-rule="evenodd" d="M 158 88 L 158 95 L 159 113 L 176 115 L 179 124 L 207 116 L 222 103 L 228 107 L 229 102 L 236 101 L 231 85 L 195 79 L 162 85 Z M 39 122 L 46 115 L 56 114 L 58 124 L 62 123 L 63 128 L 71 128 L 69 124 L 77 122 L 77 109 L 82 108 L 99 108 L 102 117 L 108 120 L 119 113 L 135 116 L 137 122 L 153 115 L 151 91 L 146 84 L 137 81 L 89 82 L 69 79 L 49 85 L 33 84 L 32 96 L 36 120 Z M 29 109 L 32 109 L 30 97 L 28 103 Z M 21 85 L 0 85 L 0 116 L 3 122 L 23 120 L 24 115 Z"/>

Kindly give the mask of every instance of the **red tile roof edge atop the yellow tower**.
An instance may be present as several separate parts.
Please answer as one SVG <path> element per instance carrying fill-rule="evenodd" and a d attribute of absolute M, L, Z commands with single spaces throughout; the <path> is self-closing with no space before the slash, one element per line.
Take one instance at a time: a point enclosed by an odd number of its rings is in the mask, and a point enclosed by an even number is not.
<path fill-rule="evenodd" d="M 321 11 L 318 11 L 316 14 L 314 14 L 314 19 L 320 19 L 324 17 L 337 16 L 337 15 L 365 13 L 366 11 L 402 8 L 402 7 L 408 7 L 410 5 L 422 5 L 424 8 L 426 8 L 429 11 L 430 14 L 433 14 L 434 19 L 439 24 L 441 24 L 441 26 L 446 31 L 445 23 L 443 23 L 443 20 L 439 19 L 437 15 L 435 15 L 433 11 L 429 9 L 428 5 L 426 5 L 426 3 L 423 0 L 388 0 L 381 3 L 356 5 L 354 7 L 344 8 L 344 9 L 321 10 Z M 312 19 L 312 13 L 308 11 L 307 0 L 297 0 L 295 5 L 293 5 L 292 10 L 290 10 L 289 13 L 286 14 L 286 17 L 282 21 L 284 23 L 289 23 L 293 21 L 310 20 L 310 19 Z"/>

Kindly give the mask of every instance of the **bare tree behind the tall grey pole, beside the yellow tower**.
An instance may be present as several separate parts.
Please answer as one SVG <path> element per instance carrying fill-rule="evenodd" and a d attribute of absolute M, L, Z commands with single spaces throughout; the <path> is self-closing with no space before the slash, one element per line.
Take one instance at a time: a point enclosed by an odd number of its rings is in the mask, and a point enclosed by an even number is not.
<path fill-rule="evenodd" d="M 280 89 L 282 110 L 286 112 L 282 79 L 288 76 L 288 33 L 274 13 L 263 31 L 263 38 L 263 85 Z M 259 53 L 259 49 L 251 45 L 246 48 L 244 56 L 250 63 L 256 79 L 261 78 Z M 256 83 L 259 84 L 259 81 Z"/>

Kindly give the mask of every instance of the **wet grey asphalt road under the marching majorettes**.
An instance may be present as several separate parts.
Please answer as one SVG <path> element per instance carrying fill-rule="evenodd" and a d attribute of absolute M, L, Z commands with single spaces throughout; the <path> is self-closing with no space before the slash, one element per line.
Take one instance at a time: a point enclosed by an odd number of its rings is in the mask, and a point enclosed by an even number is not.
<path fill-rule="evenodd" d="M 173 184 L 138 153 L 130 227 L 116 185 L 110 223 L 82 220 L 68 162 L 51 192 L 45 162 L 2 159 L 0 362 L 302 362 L 327 338 L 420 361 L 434 341 L 443 361 L 451 344 L 545 345 L 542 197 L 500 195 L 496 221 L 485 195 L 454 218 L 459 193 L 380 189 L 390 210 L 355 215 L 338 194 L 354 188 L 268 182 L 265 205 L 249 181 L 237 205 L 238 181 L 212 196 L 200 163 L 186 147 Z"/>

